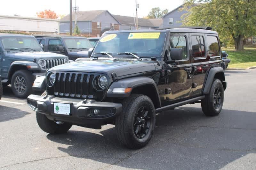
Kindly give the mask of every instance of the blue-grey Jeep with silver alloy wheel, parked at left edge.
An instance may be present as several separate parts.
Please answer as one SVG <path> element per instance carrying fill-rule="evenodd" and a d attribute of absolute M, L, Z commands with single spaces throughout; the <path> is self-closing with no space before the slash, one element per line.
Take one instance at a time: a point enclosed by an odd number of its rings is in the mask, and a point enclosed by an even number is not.
<path fill-rule="evenodd" d="M 69 63 L 65 55 L 44 52 L 34 36 L 0 34 L 0 74 L 4 86 L 26 98 L 32 91 L 35 78 L 44 76 L 47 69 Z"/>

